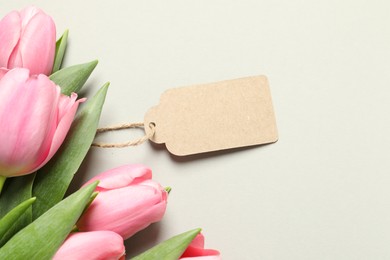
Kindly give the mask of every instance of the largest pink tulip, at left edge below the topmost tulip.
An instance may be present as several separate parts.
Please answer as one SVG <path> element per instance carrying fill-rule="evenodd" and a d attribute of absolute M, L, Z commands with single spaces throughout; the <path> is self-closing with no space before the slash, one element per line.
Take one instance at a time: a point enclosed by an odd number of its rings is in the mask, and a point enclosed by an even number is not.
<path fill-rule="evenodd" d="M 25 175 L 58 150 L 82 100 L 47 76 L 12 69 L 0 78 L 0 175 Z"/>

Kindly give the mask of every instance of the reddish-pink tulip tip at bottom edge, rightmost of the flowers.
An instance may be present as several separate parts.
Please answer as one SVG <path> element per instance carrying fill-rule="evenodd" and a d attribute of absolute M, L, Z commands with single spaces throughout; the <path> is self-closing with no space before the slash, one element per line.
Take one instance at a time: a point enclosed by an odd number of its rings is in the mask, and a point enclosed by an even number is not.
<path fill-rule="evenodd" d="M 217 250 L 214 249 L 204 249 L 204 236 L 198 234 L 191 244 L 184 251 L 180 259 L 189 260 L 221 260 L 221 255 Z"/>

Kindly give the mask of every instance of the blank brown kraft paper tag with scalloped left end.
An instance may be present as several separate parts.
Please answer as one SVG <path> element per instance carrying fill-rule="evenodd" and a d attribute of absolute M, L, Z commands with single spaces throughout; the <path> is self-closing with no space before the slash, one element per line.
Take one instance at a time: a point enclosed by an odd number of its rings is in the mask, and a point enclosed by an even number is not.
<path fill-rule="evenodd" d="M 150 123 L 151 141 L 178 156 L 278 140 L 265 76 L 169 89 L 146 113 L 145 126 Z"/>

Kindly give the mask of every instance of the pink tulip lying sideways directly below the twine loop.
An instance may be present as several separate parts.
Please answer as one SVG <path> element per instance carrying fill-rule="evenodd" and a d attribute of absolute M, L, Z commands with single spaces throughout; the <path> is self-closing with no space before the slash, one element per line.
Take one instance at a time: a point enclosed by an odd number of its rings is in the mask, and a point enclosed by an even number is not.
<path fill-rule="evenodd" d="M 102 173 L 85 185 L 100 180 L 95 198 L 80 218 L 80 231 L 111 230 L 124 239 L 160 221 L 168 193 L 153 181 L 142 165 L 126 165 Z"/>

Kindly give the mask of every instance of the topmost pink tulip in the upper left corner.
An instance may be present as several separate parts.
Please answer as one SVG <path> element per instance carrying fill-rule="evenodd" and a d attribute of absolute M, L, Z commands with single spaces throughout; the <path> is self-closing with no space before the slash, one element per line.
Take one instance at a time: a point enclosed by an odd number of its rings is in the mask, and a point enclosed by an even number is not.
<path fill-rule="evenodd" d="M 0 21 L 0 46 L 0 67 L 49 75 L 56 48 L 55 24 L 36 7 L 13 11 Z"/>

